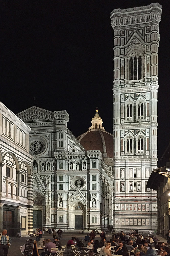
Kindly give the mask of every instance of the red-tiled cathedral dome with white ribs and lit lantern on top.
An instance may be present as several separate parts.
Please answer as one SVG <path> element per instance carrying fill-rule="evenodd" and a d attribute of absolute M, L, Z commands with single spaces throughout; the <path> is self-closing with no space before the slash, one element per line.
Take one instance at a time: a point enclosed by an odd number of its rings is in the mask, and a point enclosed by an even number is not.
<path fill-rule="evenodd" d="M 102 156 L 113 158 L 113 135 L 104 130 L 102 119 L 96 109 L 96 114 L 91 120 L 89 131 L 77 137 L 85 150 L 100 150 Z"/>

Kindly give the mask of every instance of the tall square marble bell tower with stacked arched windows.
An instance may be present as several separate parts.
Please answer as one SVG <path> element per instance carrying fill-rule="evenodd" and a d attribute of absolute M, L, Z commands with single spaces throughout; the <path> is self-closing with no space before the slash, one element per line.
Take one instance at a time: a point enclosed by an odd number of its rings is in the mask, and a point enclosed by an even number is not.
<path fill-rule="evenodd" d="M 157 226 L 158 47 L 161 5 L 114 9 L 114 228 Z"/>

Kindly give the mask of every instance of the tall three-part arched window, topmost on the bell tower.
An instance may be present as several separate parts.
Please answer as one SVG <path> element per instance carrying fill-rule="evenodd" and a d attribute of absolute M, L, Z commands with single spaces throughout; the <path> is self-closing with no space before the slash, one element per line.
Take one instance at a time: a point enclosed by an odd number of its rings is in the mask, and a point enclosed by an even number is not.
<path fill-rule="evenodd" d="M 130 57 L 129 60 L 129 80 L 142 79 L 142 59 L 141 57 Z"/>

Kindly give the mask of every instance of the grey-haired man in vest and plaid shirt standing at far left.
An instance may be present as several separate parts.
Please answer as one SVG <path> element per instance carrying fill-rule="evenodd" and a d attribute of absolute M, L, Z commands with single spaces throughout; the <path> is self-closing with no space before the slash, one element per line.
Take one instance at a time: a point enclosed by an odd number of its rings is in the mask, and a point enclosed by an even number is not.
<path fill-rule="evenodd" d="M 7 236 L 7 230 L 2 229 L 2 234 L 0 235 L 0 255 L 6 256 L 8 254 L 8 248 L 11 242 L 10 236 Z"/>

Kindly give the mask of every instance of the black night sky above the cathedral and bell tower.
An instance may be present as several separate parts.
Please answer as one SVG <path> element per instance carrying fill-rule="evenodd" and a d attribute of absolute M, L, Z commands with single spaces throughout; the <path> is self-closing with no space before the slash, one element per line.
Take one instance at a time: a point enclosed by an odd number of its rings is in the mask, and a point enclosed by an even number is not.
<path fill-rule="evenodd" d="M 15 114 L 31 106 L 66 110 L 77 137 L 98 107 L 113 133 L 113 29 L 115 8 L 153 1 L 0 1 L 0 101 Z M 162 5 L 158 58 L 158 158 L 170 140 L 170 3 Z M 164 165 L 161 161 L 159 166 Z"/>

